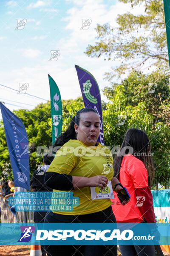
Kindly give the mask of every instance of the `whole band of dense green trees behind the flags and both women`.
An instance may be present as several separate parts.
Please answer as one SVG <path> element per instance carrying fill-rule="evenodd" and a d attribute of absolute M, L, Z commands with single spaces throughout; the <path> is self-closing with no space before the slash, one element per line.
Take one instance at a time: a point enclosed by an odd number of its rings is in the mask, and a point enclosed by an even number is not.
<path fill-rule="evenodd" d="M 121 84 L 114 83 L 106 87 L 104 94 L 109 102 L 102 102 L 103 128 L 105 145 L 120 146 L 125 132 L 129 128 L 144 130 L 152 145 L 156 167 L 155 184 L 166 185 L 170 179 L 170 95 L 169 80 L 162 78 L 157 83 L 154 93 L 148 93 L 148 82 L 153 81 L 155 73 L 143 75 L 133 72 Z M 81 97 L 76 100 L 63 100 L 62 131 L 68 127 L 71 118 L 84 107 Z M 30 176 L 37 165 L 42 164 L 42 157 L 37 157 L 37 147 L 51 145 L 51 109 L 50 102 L 40 104 L 31 111 L 20 109 L 14 113 L 23 121 L 30 145 Z M 124 125 L 118 124 L 118 116 L 127 116 Z M 115 151 L 116 154 L 116 151 Z M 114 155 L 113 155 L 114 157 Z M 9 160 L 3 122 L 0 122 L 0 178 L 11 179 L 11 163 Z"/>

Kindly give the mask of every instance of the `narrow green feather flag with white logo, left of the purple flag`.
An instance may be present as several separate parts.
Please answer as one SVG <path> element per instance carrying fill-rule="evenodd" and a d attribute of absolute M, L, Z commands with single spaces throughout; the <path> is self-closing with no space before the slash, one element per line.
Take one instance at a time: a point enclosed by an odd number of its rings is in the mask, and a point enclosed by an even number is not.
<path fill-rule="evenodd" d="M 48 74 L 51 97 L 52 143 L 62 131 L 62 101 L 56 82 Z"/>

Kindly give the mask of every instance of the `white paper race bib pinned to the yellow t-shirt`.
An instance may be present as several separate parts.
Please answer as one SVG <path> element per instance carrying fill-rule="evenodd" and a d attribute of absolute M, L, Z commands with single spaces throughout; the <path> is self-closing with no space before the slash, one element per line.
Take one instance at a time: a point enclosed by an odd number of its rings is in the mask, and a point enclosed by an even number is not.
<path fill-rule="evenodd" d="M 99 186 L 91 188 L 92 200 L 108 198 L 114 198 L 111 180 L 109 180 L 108 185 L 104 189 L 101 189 Z"/>

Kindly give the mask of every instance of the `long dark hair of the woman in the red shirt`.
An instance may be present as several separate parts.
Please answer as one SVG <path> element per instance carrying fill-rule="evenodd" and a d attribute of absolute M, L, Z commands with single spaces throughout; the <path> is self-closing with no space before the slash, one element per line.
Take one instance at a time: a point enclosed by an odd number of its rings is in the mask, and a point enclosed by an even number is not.
<path fill-rule="evenodd" d="M 113 161 L 114 174 L 118 179 L 124 157 L 122 152 L 124 154 L 132 154 L 144 163 L 147 169 L 148 186 L 151 188 L 153 184 L 154 167 L 152 157 L 148 155 L 150 152 L 150 141 L 147 134 L 136 128 L 127 130 L 119 152 L 121 155 L 118 156 L 118 154 Z"/>

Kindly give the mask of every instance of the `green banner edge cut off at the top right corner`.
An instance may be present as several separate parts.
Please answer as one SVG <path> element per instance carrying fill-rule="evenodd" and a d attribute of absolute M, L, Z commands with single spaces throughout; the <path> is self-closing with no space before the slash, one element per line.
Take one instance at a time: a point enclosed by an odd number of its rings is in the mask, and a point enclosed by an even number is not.
<path fill-rule="evenodd" d="M 164 0 L 164 15 L 167 32 L 167 49 L 170 64 L 170 0 Z"/>

